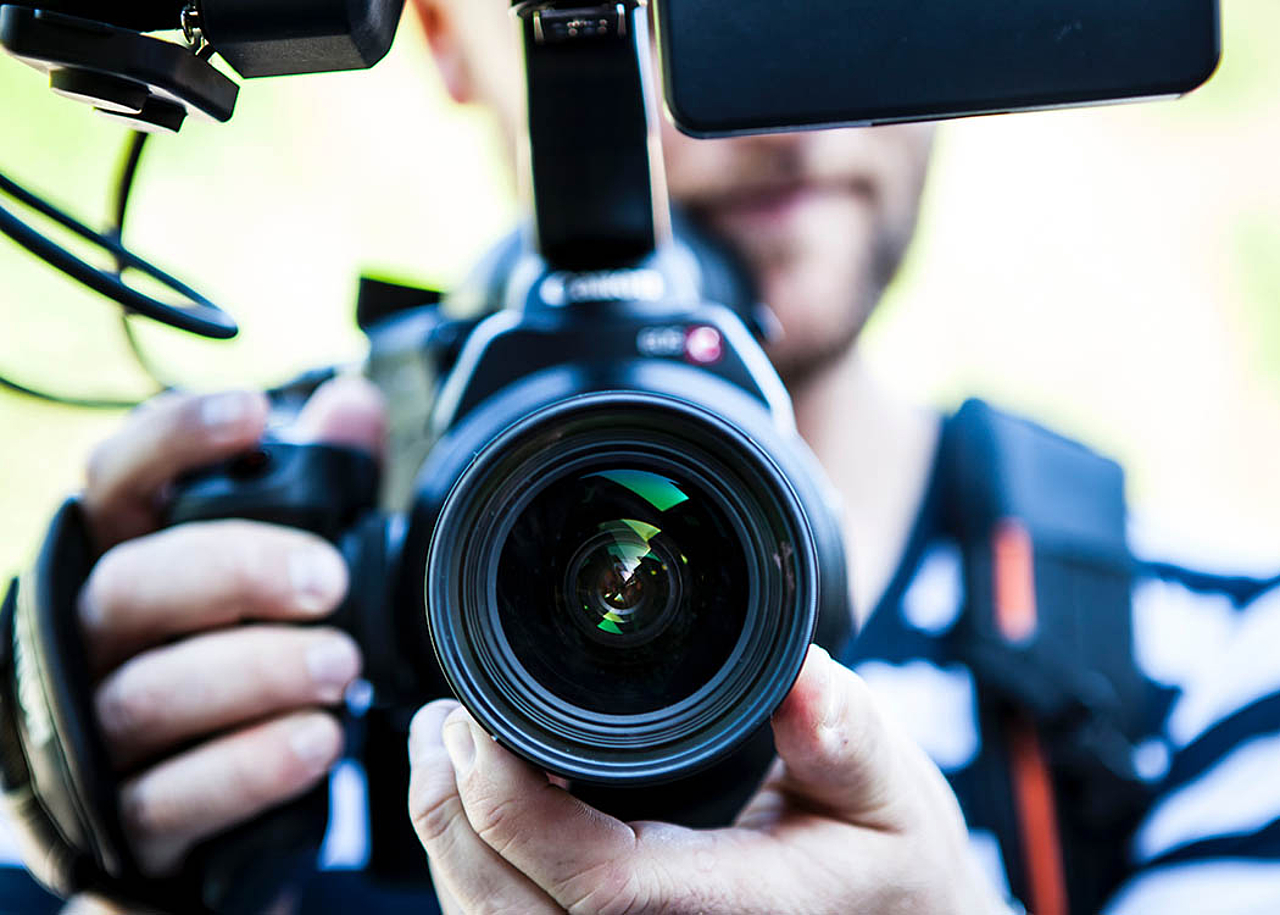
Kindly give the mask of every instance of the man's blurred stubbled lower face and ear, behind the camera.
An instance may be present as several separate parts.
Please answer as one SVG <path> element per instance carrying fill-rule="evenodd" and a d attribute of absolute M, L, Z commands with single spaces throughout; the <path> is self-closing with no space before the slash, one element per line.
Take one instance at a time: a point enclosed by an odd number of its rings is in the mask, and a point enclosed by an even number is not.
<path fill-rule="evenodd" d="M 508 0 L 417 3 L 454 95 L 517 136 Z M 782 324 L 769 356 L 788 381 L 845 353 L 867 322 L 915 228 L 931 143 L 922 125 L 705 141 L 663 119 L 672 197 L 742 255 Z"/>

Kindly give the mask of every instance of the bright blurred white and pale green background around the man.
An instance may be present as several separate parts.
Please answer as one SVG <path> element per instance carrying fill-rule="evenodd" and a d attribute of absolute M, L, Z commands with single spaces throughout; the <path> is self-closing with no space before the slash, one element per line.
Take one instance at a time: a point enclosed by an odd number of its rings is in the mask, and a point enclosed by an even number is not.
<path fill-rule="evenodd" d="M 1280 4 L 1224 0 L 1215 79 L 1178 102 L 946 125 L 919 239 L 865 352 L 947 407 L 979 394 L 1121 457 L 1156 540 L 1280 557 Z M 0 169 L 104 219 L 125 132 L 0 58 Z M 128 241 L 239 320 L 140 325 L 197 388 L 361 354 L 361 270 L 448 287 L 511 224 L 486 118 L 412 19 L 367 73 L 247 84 L 229 125 L 147 151 Z M 142 395 L 114 306 L 0 239 L 0 371 Z M 119 415 L 0 393 L 0 572 L 26 563 Z"/>

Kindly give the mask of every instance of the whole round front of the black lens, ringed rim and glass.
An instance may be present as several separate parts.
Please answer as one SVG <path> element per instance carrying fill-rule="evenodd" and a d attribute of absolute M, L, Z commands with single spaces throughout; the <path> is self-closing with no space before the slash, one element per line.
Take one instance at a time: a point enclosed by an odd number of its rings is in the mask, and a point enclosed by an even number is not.
<path fill-rule="evenodd" d="M 737 426 L 607 393 L 494 439 L 436 520 L 433 644 L 483 727 L 567 778 L 648 784 L 764 724 L 814 635 L 814 537 Z"/>

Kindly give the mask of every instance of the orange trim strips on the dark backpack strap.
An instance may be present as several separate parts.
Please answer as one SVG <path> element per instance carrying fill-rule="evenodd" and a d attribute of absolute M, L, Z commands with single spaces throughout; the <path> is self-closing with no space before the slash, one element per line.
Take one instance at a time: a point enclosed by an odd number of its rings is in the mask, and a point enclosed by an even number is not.
<path fill-rule="evenodd" d="M 996 626 L 1009 642 L 1036 633 L 1036 553 L 1030 534 L 1018 521 L 996 527 L 992 541 Z M 1068 915 L 1066 875 L 1057 831 L 1057 804 L 1044 747 L 1025 715 L 1007 723 L 1009 773 L 1014 810 L 1027 868 L 1025 900 L 1036 915 Z"/>

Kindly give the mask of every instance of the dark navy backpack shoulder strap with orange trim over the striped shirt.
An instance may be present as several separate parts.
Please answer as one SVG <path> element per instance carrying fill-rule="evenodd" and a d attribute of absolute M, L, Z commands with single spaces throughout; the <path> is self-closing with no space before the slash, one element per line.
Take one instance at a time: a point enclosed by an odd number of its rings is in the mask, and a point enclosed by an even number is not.
<path fill-rule="evenodd" d="M 1133 750 L 1156 699 L 1133 655 L 1123 471 L 979 401 L 947 422 L 940 468 L 965 567 L 951 637 L 1002 742 L 1011 888 L 1037 915 L 1097 911 L 1149 804 Z"/>

